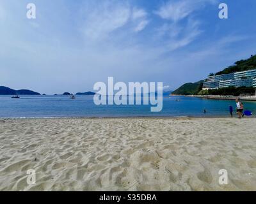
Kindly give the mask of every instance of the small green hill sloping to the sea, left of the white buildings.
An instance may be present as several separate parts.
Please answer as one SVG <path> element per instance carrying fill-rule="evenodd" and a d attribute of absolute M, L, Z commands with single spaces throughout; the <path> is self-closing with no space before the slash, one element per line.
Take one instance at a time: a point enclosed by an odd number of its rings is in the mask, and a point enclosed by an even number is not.
<path fill-rule="evenodd" d="M 174 95 L 194 95 L 197 94 L 203 86 L 204 80 L 195 83 L 186 83 L 172 92 Z"/>

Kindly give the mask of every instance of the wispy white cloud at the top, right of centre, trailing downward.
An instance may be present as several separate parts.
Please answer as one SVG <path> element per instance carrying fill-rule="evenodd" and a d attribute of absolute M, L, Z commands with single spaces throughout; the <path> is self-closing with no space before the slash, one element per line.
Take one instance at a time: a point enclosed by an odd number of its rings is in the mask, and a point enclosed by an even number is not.
<path fill-rule="evenodd" d="M 166 38 L 165 45 L 169 51 L 186 47 L 196 40 L 203 31 L 200 29 L 200 20 L 196 20 L 193 15 L 196 11 L 202 10 L 207 3 L 216 3 L 217 0 L 180 0 L 168 1 L 157 11 L 156 15 L 166 20 L 157 29 L 156 35 Z M 181 20 L 183 20 L 181 22 Z M 184 24 L 184 22 L 186 22 Z"/>

